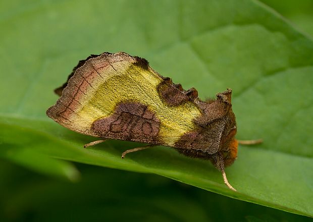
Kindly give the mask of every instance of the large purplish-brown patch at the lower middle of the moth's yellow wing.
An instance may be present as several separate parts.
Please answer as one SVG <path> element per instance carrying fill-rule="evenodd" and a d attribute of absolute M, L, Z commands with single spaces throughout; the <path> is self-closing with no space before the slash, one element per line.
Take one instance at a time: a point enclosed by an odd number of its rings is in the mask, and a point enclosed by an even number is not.
<path fill-rule="evenodd" d="M 148 106 L 119 103 L 113 115 L 95 121 L 92 131 L 99 137 L 159 144 L 160 120 Z"/>

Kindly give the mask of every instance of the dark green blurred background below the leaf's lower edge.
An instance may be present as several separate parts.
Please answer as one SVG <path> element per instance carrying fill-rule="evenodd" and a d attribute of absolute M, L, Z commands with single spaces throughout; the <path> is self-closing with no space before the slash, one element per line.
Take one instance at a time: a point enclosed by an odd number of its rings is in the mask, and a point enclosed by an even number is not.
<path fill-rule="evenodd" d="M 70 183 L 2 161 L 1 221 L 311 220 L 161 176 L 76 165 L 82 179 Z"/>

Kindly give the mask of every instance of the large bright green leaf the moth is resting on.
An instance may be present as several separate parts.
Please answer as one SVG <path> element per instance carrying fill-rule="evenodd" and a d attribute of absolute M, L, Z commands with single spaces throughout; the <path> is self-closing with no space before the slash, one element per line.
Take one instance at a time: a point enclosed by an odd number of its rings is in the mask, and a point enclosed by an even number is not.
<path fill-rule="evenodd" d="M 250 0 L 1 4 L 1 149 L 159 174 L 313 216 L 313 41 L 277 13 Z M 103 51 L 146 58 L 185 89 L 197 88 L 201 98 L 233 89 L 237 138 L 264 139 L 240 146 L 226 170 L 238 192 L 210 162 L 166 147 L 121 159 L 140 144 L 108 141 L 83 149 L 94 138 L 48 120 L 45 110 L 57 100 L 53 89 L 79 60 Z"/>

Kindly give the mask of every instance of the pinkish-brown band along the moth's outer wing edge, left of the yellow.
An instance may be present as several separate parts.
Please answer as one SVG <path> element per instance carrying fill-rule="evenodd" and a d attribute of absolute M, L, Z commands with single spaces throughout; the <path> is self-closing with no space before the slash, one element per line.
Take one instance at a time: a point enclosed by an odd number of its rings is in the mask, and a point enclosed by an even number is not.
<path fill-rule="evenodd" d="M 80 110 L 96 88 L 110 75 L 118 75 L 116 63 L 131 64 L 135 59 L 124 52 L 102 53 L 92 56 L 74 69 L 74 74 L 63 89 L 62 96 L 47 110 L 47 116 L 59 124 L 79 133 L 96 136 L 91 130 L 90 120 L 79 117 Z M 79 121 L 79 123 L 77 122 Z"/>

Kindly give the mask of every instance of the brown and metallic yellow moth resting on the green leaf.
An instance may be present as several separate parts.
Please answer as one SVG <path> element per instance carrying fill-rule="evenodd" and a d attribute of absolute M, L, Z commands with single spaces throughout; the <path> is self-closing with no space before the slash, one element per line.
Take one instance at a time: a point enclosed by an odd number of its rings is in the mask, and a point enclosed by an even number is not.
<path fill-rule="evenodd" d="M 155 72 L 145 59 L 125 52 L 90 55 L 56 89 L 61 97 L 46 114 L 62 126 L 85 135 L 169 146 L 189 156 L 211 160 L 227 181 L 225 167 L 237 157 L 237 127 L 232 90 L 202 101 L 194 88 L 184 90 Z"/>

